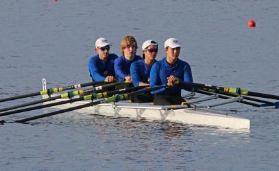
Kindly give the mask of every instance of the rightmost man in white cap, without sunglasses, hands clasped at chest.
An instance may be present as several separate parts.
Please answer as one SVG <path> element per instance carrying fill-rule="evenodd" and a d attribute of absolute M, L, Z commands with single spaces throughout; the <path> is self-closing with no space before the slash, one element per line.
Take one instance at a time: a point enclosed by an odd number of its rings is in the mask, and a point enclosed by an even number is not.
<path fill-rule="evenodd" d="M 164 85 L 166 83 L 175 83 L 182 80 L 193 82 L 191 67 L 187 62 L 178 59 L 180 55 L 180 42 L 176 38 L 169 38 L 165 42 L 165 54 L 162 60 L 156 62 L 150 72 L 150 87 Z M 154 94 L 154 105 L 178 105 L 184 99 L 181 97 L 182 87 L 162 88 L 151 92 Z M 184 90 L 191 88 L 183 87 Z"/>

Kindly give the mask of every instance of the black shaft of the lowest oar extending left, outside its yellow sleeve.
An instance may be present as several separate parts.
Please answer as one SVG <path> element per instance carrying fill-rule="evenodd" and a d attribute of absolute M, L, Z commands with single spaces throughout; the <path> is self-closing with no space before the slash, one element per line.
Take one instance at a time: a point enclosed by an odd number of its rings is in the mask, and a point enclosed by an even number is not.
<path fill-rule="evenodd" d="M 53 112 L 50 112 L 48 114 L 33 116 L 33 117 L 25 118 L 25 119 L 22 119 L 22 120 L 16 120 L 15 122 L 19 122 L 19 123 L 28 122 L 30 120 L 36 120 L 36 119 L 39 119 L 39 118 L 45 118 L 47 116 L 53 116 L 53 115 L 56 115 L 56 114 L 62 114 L 62 113 L 68 112 L 68 111 L 73 111 L 73 110 L 77 110 L 77 109 L 82 109 L 84 107 L 90 107 L 90 106 L 93 106 L 93 105 L 98 105 L 102 101 L 104 101 L 104 100 L 94 101 L 94 102 L 86 103 L 84 105 L 78 105 L 78 106 L 75 106 L 75 107 L 69 107 L 69 108 L 66 108 L 66 109 L 59 110 L 59 111 L 53 111 Z"/>

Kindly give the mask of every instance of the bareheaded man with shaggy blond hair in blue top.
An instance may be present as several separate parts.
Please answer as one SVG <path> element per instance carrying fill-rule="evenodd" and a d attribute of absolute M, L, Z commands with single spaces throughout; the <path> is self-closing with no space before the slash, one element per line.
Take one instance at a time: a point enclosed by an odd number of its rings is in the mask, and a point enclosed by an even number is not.
<path fill-rule="evenodd" d="M 132 62 L 142 60 L 142 58 L 136 55 L 136 49 L 138 44 L 134 36 L 125 36 L 121 40 L 121 53 L 122 55 L 114 62 L 114 70 L 118 77 L 118 81 L 128 81 L 132 83 L 132 77 L 130 75 L 130 66 Z M 127 88 L 129 84 L 121 84 L 118 88 Z"/>

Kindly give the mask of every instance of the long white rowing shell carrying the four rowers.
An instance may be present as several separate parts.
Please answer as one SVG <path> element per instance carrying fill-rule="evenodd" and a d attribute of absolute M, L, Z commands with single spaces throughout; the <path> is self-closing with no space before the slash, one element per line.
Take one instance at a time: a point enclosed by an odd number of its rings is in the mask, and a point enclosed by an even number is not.
<path fill-rule="evenodd" d="M 43 81 L 44 82 L 44 81 Z M 43 83 L 43 88 L 46 84 Z M 44 97 L 46 98 L 46 96 Z M 64 101 L 58 99 L 51 102 Z M 65 109 L 89 103 L 90 101 L 78 101 L 64 105 L 55 106 L 55 108 Z M 181 122 L 184 124 L 193 124 L 199 126 L 221 127 L 228 129 L 250 129 L 250 120 L 238 116 L 228 116 L 225 114 L 216 114 L 211 111 L 200 109 L 184 108 L 177 109 L 177 106 L 161 106 L 142 103 L 102 103 L 92 107 L 77 109 L 82 114 L 97 114 L 105 116 L 119 116 L 127 118 L 144 118 L 146 120 L 165 120 L 170 122 Z"/>

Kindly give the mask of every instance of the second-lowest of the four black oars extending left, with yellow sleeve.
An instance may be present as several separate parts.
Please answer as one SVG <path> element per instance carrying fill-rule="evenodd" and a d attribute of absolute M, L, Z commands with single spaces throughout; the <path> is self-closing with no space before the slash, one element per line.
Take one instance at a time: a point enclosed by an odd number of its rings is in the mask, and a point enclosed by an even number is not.
<path fill-rule="evenodd" d="M 94 99 L 94 98 L 105 98 L 108 96 L 112 96 L 114 94 L 122 94 L 125 92 L 131 92 L 131 91 L 136 91 L 136 90 L 140 90 L 142 88 L 146 88 L 147 86 L 138 86 L 138 87 L 132 87 L 132 88 L 124 88 L 121 90 L 114 90 L 111 92 L 102 92 L 102 93 L 95 93 L 95 94 L 90 94 L 90 95 L 86 95 L 86 96 L 82 96 L 79 98 L 72 98 L 66 101 L 59 101 L 59 102 L 55 102 L 55 103 L 49 103 L 49 104 L 45 104 L 45 105 L 37 105 L 34 107 L 27 107 L 24 109 L 19 109 L 19 110 L 13 110 L 13 111 L 8 111 L 8 112 L 4 112 L 1 113 L 0 116 L 7 116 L 7 115 L 11 115 L 11 114 L 18 114 L 24 111 L 32 111 L 32 110 L 36 110 L 36 109 L 43 109 L 45 107 L 52 107 L 52 106 L 56 106 L 56 105 L 64 105 L 67 103 L 74 103 L 76 101 L 85 101 L 85 100 L 90 100 L 90 99 Z"/>

